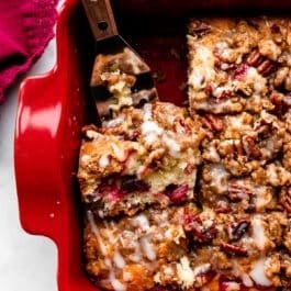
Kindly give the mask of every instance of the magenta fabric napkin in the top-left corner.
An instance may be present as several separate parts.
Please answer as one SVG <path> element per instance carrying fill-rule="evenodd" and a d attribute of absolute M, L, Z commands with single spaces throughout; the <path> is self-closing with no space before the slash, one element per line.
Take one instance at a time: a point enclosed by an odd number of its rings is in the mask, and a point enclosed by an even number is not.
<path fill-rule="evenodd" d="M 0 0 L 0 104 L 54 36 L 57 0 Z"/>

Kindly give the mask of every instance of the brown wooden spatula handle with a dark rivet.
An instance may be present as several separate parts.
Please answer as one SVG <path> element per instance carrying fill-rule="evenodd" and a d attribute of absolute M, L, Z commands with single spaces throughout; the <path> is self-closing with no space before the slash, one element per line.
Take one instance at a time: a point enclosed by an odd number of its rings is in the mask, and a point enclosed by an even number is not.
<path fill-rule="evenodd" d="M 110 0 L 82 0 L 82 4 L 97 41 L 119 34 Z"/>

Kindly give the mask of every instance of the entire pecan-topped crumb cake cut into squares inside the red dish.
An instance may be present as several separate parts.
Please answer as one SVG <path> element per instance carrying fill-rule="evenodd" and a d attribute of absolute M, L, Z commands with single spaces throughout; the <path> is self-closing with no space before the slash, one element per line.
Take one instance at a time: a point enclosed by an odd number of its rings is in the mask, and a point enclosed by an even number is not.
<path fill-rule="evenodd" d="M 289 26 L 191 20 L 189 113 L 128 103 L 85 126 L 78 179 L 98 288 L 291 291 Z"/>

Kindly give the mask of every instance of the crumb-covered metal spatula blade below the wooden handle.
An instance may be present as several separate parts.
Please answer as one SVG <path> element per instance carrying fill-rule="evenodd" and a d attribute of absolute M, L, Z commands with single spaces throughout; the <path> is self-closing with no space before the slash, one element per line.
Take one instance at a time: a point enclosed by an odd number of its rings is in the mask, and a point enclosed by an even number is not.
<path fill-rule="evenodd" d="M 139 107 L 158 98 L 153 88 L 138 88 L 137 76 L 146 75 L 149 67 L 131 49 L 114 55 L 98 55 L 91 76 L 91 87 L 99 90 L 96 100 L 101 119 L 114 116 L 124 107 Z"/>

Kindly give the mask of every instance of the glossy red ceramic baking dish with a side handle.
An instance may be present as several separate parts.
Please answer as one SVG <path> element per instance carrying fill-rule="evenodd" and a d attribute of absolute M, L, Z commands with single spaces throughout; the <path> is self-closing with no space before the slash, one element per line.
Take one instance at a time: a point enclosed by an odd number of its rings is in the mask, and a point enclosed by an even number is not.
<path fill-rule="evenodd" d="M 183 58 L 179 59 L 179 52 L 184 49 L 184 20 L 201 9 L 243 9 L 249 3 L 112 2 L 121 34 L 145 57 L 153 71 L 166 72 L 166 81 L 157 83 L 160 98 L 179 104 L 184 98 L 179 89 L 186 77 Z M 272 0 L 253 4 L 268 9 L 291 7 L 291 2 Z M 20 217 L 26 232 L 56 243 L 59 291 L 90 291 L 96 287 L 82 269 L 82 220 L 75 174 L 81 126 L 94 121 L 90 115 L 93 105 L 86 98 L 94 45 L 78 0 L 65 1 L 56 37 L 54 69 L 26 79 L 20 91 L 14 147 Z"/>

